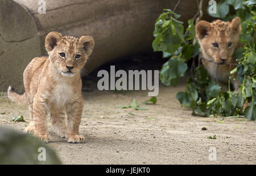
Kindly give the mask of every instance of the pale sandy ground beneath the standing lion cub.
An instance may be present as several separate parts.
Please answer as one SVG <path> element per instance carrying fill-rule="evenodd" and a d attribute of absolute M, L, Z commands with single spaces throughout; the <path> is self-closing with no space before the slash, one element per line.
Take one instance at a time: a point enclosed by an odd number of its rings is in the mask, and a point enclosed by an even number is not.
<path fill-rule="evenodd" d="M 156 105 L 142 105 L 147 91 L 83 91 L 80 134 L 83 144 L 60 139 L 48 121 L 50 145 L 63 164 L 256 164 L 256 123 L 245 118 L 193 117 L 176 100 L 179 87 L 160 85 Z M 119 109 L 133 98 L 148 110 Z M 0 96 L 0 125 L 22 131 L 28 125 L 26 106 Z M 134 115 L 131 115 L 134 114 Z M 26 122 L 13 122 L 24 115 Z M 208 130 L 201 130 L 206 127 Z M 216 135 L 217 139 L 207 139 Z M 209 161 L 209 148 L 216 161 Z"/>

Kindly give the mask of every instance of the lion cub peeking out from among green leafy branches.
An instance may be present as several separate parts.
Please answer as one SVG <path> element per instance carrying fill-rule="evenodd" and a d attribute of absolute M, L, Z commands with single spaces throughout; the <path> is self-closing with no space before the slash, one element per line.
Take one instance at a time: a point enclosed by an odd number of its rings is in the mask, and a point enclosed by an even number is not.
<path fill-rule="evenodd" d="M 233 58 L 234 51 L 240 47 L 239 35 L 241 33 L 241 20 L 236 17 L 230 22 L 216 20 L 212 23 L 204 20 L 196 25 L 196 37 L 201 46 L 201 54 L 204 59 L 202 63 L 208 70 L 209 74 L 215 78 L 218 65 L 217 79 L 226 91 L 230 75 L 230 71 L 236 68 L 235 65 L 226 65 L 225 63 L 236 63 Z M 228 47 L 229 42 L 232 45 Z M 213 43 L 218 44 L 218 48 L 213 46 Z M 238 89 L 241 84 L 237 80 L 237 74 L 234 79 L 230 79 L 234 89 Z"/>

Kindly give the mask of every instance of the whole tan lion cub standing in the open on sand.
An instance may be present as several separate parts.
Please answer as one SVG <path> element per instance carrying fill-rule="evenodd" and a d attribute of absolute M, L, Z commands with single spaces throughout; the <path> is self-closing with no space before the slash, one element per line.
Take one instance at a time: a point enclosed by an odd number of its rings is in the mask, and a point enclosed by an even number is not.
<path fill-rule="evenodd" d="M 61 36 L 57 32 L 50 32 L 46 36 L 49 57 L 32 59 L 24 70 L 23 81 L 26 93 L 22 96 L 18 95 L 12 87 L 9 87 L 8 91 L 11 100 L 19 103 L 27 102 L 29 106 L 30 124 L 24 132 L 34 132 L 40 139 L 48 141 L 47 114 L 50 114 L 53 128 L 59 136 L 67 138 L 69 143 L 84 141 L 84 136 L 79 135 L 84 105 L 80 71 L 92 53 L 93 47 L 94 40 L 90 36 L 82 36 L 78 39 Z M 59 53 L 65 53 L 65 57 L 61 57 Z M 76 59 L 76 54 L 81 57 Z"/>

